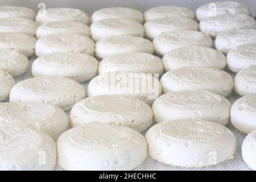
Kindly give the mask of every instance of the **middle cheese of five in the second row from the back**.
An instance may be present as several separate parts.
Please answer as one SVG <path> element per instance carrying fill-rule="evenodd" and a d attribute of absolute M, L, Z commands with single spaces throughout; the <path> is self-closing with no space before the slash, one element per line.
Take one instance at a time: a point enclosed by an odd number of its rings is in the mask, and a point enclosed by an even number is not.
<path fill-rule="evenodd" d="M 102 19 L 90 26 L 90 35 L 94 41 L 110 36 L 133 35 L 144 37 L 144 27 L 135 20 L 127 19 Z"/>

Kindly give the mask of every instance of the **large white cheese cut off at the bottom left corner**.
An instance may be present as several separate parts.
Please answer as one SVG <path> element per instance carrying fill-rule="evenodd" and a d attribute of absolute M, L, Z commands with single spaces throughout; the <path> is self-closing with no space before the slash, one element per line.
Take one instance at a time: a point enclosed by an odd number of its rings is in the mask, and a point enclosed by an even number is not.
<path fill-rule="evenodd" d="M 0 127 L 1 171 L 49 171 L 56 165 L 56 144 L 49 135 L 26 127 Z"/>

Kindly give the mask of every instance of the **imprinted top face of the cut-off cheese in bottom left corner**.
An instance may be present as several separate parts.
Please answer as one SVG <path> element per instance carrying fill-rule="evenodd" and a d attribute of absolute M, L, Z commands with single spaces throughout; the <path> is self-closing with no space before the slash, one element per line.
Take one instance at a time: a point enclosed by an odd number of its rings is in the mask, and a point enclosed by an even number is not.
<path fill-rule="evenodd" d="M 27 155 L 42 146 L 44 139 L 25 127 L 0 127 L 0 156 Z"/>

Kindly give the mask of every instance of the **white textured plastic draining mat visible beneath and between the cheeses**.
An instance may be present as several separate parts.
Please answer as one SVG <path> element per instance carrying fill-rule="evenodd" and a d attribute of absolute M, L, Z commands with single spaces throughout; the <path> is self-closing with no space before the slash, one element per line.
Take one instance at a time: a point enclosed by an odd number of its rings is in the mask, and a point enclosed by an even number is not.
<path fill-rule="evenodd" d="M 15 78 L 15 82 L 19 82 L 22 81 L 26 78 L 32 78 L 32 73 L 31 73 L 31 65 L 32 62 L 35 60 L 35 56 L 31 57 L 30 59 L 30 68 L 29 70 L 22 76 Z M 228 72 L 230 75 L 232 75 L 234 77 L 233 73 L 230 73 L 228 70 L 225 70 L 226 72 Z M 82 84 L 84 86 L 84 88 L 86 89 L 88 86 L 88 82 L 84 82 Z M 232 93 L 231 96 L 228 97 L 228 100 L 231 102 L 231 104 L 233 104 L 234 101 L 236 101 L 238 98 L 240 98 L 240 96 L 238 96 L 236 93 Z M 67 112 L 68 116 L 69 116 L 69 112 Z M 154 159 L 152 159 L 150 156 L 147 156 L 146 160 L 144 160 L 144 162 L 138 166 L 137 168 L 135 168 L 134 170 L 141 170 L 141 171 L 220 171 L 220 170 L 225 170 L 225 171 L 244 171 L 244 170 L 251 170 L 246 164 L 245 162 L 243 162 L 242 159 L 242 151 L 241 151 L 241 146 L 242 146 L 242 142 L 243 139 L 245 139 L 246 135 L 240 133 L 240 131 L 236 130 L 231 123 L 229 123 L 227 125 L 228 129 L 230 129 L 233 134 L 236 136 L 237 138 L 237 151 L 236 154 L 234 155 L 233 159 L 229 159 L 226 160 L 225 162 L 222 162 L 221 164 L 218 164 L 216 166 L 211 166 L 211 167 L 203 167 L 203 168 L 182 168 L 182 167 L 174 167 L 174 166 L 168 166 L 167 164 L 163 164 L 160 163 Z M 143 133 L 144 135 L 145 133 Z M 55 167 L 55 171 L 63 171 L 64 169 L 62 169 L 59 166 Z"/>

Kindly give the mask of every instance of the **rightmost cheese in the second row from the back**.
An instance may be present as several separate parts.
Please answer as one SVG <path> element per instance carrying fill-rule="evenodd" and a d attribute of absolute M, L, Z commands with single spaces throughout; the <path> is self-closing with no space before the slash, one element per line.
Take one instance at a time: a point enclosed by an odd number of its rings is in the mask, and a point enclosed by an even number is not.
<path fill-rule="evenodd" d="M 223 14 L 201 20 L 199 29 L 204 34 L 216 37 L 223 31 L 256 28 L 253 17 L 246 14 Z"/>

